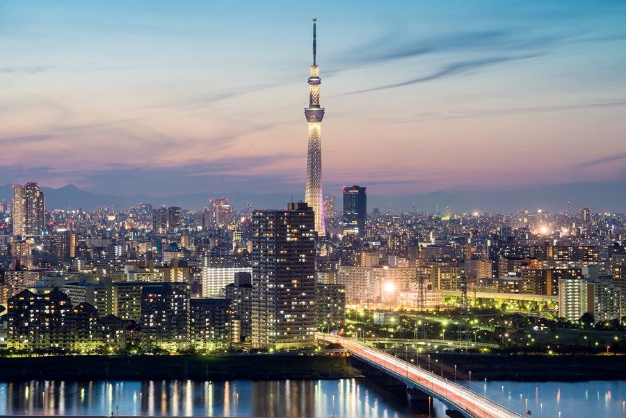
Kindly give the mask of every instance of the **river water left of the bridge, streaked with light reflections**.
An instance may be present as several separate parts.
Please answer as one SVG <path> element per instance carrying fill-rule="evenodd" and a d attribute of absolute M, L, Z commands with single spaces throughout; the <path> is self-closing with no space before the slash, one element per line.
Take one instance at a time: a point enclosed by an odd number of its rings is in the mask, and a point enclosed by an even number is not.
<path fill-rule="evenodd" d="M 331 417 L 333 405 L 337 418 L 422 416 L 355 379 L 0 383 L 0 415 Z"/>

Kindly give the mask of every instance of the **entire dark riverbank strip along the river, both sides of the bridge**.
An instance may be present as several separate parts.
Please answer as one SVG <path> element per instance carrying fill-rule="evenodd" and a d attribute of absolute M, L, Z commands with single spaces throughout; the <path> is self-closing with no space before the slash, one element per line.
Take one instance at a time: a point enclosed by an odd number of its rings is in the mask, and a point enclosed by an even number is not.
<path fill-rule="evenodd" d="M 401 357 L 401 355 L 399 355 Z M 436 361 L 435 361 L 436 360 Z M 420 366 L 426 368 L 426 357 Z M 515 381 L 622 380 L 626 355 L 431 353 L 444 377 Z M 135 355 L 0 357 L 0 382 L 17 380 L 284 380 L 358 378 L 346 357 L 323 355 Z"/>

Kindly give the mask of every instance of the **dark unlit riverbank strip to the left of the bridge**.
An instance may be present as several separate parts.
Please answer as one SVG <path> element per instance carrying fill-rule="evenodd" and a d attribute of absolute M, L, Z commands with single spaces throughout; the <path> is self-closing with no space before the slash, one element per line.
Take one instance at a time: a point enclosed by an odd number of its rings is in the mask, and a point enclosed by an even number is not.
<path fill-rule="evenodd" d="M 284 380 L 360 376 L 346 357 L 323 355 L 0 357 L 0 381 Z"/>

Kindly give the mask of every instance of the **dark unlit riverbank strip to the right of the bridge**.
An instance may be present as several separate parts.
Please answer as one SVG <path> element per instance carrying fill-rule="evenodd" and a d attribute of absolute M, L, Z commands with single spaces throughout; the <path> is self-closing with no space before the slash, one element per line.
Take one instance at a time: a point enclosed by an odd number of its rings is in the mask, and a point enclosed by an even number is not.
<path fill-rule="evenodd" d="M 438 360 L 437 363 L 434 360 Z M 422 360 L 420 360 L 422 362 Z M 431 353 L 431 366 L 444 376 L 454 378 L 454 364 L 465 378 L 472 380 L 561 381 L 623 380 L 626 355 L 474 355 Z M 436 366 L 435 366 L 436 364 Z"/>

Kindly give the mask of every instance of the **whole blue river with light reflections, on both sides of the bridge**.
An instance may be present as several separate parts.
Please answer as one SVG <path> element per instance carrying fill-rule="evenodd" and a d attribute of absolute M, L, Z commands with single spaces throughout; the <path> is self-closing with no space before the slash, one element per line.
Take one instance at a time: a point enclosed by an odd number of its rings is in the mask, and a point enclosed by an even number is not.
<path fill-rule="evenodd" d="M 503 388 L 504 387 L 504 388 Z M 472 382 L 532 417 L 625 418 L 626 381 Z M 364 379 L 0 383 L 0 415 L 202 415 L 205 417 L 427 417 Z M 445 417 L 435 403 L 432 417 Z"/>

